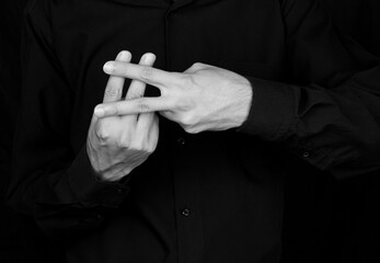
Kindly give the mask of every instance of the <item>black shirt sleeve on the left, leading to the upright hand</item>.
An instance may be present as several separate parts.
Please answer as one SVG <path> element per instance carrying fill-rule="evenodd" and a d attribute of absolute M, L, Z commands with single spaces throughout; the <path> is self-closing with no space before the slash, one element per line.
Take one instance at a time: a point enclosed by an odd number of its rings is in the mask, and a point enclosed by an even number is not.
<path fill-rule="evenodd" d="M 47 236 L 61 238 L 101 225 L 103 215 L 125 199 L 128 185 L 101 182 L 85 147 L 74 150 L 70 145 L 72 90 L 37 2 L 31 1 L 25 11 L 22 100 L 8 201 L 33 215 Z"/>

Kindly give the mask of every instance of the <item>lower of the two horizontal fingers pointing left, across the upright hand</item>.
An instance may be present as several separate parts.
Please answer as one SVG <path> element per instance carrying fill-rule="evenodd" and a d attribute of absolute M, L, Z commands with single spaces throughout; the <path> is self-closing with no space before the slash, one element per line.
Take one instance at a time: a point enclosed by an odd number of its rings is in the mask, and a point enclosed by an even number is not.
<path fill-rule="evenodd" d="M 164 96 L 156 96 L 103 103 L 95 107 L 94 114 L 97 117 L 107 117 L 172 110 L 173 105 Z"/>

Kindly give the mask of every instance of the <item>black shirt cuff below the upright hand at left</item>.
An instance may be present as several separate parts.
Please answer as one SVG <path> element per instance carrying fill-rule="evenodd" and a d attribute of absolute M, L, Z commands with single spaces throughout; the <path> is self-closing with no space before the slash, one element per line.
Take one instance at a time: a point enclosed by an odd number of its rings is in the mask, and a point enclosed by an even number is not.
<path fill-rule="evenodd" d="M 129 192 L 127 181 L 101 181 L 88 158 L 83 147 L 68 170 L 68 181 L 71 190 L 84 206 L 118 207 Z"/>

